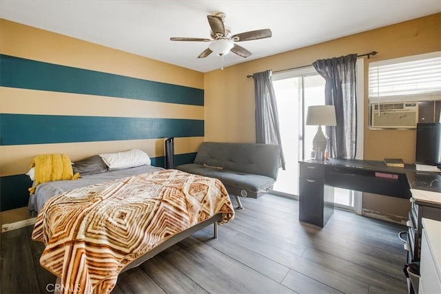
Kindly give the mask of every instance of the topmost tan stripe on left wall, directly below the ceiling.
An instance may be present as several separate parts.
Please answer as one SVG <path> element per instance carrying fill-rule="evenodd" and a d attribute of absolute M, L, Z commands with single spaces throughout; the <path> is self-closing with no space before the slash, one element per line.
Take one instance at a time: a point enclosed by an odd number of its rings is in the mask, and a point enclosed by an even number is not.
<path fill-rule="evenodd" d="M 163 61 L 0 19 L 0 53 L 204 89 L 204 74 Z"/>

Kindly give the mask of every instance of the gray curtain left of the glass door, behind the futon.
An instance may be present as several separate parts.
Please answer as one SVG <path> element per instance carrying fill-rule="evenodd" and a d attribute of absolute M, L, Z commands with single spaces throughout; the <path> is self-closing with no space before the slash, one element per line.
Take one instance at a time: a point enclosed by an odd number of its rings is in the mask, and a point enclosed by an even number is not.
<path fill-rule="evenodd" d="M 282 140 L 276 95 L 274 94 L 271 71 L 256 72 L 253 74 L 254 96 L 256 98 L 256 143 L 280 146 L 280 165 L 285 170 L 285 156 L 283 156 Z"/>

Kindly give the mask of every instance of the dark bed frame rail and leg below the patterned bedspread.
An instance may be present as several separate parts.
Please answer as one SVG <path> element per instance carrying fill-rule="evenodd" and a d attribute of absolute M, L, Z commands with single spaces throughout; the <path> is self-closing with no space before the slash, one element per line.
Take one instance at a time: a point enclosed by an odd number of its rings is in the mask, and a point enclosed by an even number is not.
<path fill-rule="evenodd" d="M 161 253 L 167 248 L 170 248 L 174 244 L 181 242 L 185 238 L 189 237 L 193 233 L 196 233 L 197 231 L 200 231 L 201 229 L 204 229 L 205 227 L 209 226 L 210 224 L 214 224 L 214 238 L 218 238 L 218 221 L 222 220 L 222 213 L 217 213 L 216 215 L 212 216 L 212 218 L 209 218 L 208 220 L 204 220 L 203 222 L 200 222 L 198 224 L 195 224 L 193 227 L 189 227 L 185 231 L 182 231 L 180 233 L 177 233 L 176 235 L 173 235 L 171 238 L 165 240 L 158 246 L 154 247 L 151 251 L 145 253 L 145 255 L 141 256 L 140 258 L 137 258 L 136 260 L 130 262 L 130 264 L 127 264 L 124 269 L 120 272 L 124 273 L 125 271 L 128 271 L 130 269 L 134 269 L 136 266 L 141 265 L 143 262 L 146 262 L 147 260 L 150 260 L 150 258 L 153 258 L 156 254 Z M 56 285 L 61 285 L 61 277 L 57 277 L 57 282 L 55 282 Z M 55 287 L 56 290 L 61 290 L 61 286 Z M 59 294 L 59 291 L 54 291 L 54 293 Z"/>

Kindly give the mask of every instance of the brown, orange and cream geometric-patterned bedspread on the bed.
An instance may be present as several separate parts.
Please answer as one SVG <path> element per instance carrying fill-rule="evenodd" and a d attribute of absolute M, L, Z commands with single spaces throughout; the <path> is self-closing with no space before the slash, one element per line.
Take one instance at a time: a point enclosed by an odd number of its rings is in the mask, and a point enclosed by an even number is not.
<path fill-rule="evenodd" d="M 125 265 L 216 213 L 219 224 L 234 218 L 219 180 L 167 169 L 50 198 L 32 239 L 44 242 L 40 263 L 62 293 L 110 293 Z"/>

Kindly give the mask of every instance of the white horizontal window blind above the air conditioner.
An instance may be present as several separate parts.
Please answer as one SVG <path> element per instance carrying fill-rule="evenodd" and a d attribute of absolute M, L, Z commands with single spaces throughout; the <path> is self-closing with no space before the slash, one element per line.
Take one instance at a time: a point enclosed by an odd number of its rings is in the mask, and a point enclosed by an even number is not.
<path fill-rule="evenodd" d="M 441 52 L 369 63 L 369 103 L 441 100 Z"/>

